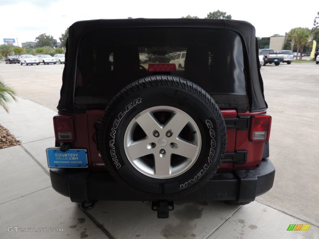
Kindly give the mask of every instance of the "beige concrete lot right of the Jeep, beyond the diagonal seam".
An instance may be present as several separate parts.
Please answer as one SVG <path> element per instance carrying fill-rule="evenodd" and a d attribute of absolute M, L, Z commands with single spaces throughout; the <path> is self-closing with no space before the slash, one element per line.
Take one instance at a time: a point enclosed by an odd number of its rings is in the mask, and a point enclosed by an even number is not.
<path fill-rule="evenodd" d="M 261 74 L 276 176 L 257 200 L 319 226 L 319 65 L 267 64 Z"/>

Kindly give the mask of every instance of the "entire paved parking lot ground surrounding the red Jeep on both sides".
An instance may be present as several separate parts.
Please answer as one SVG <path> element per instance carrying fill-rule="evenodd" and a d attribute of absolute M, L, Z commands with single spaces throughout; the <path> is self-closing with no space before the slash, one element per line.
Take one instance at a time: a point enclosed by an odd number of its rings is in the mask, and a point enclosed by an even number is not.
<path fill-rule="evenodd" d="M 10 104 L 10 114 L 0 109 L 0 124 L 22 140 L 0 150 L 0 238 L 319 238 L 319 65 L 261 68 L 272 116 L 273 188 L 245 206 L 176 202 L 169 219 L 157 219 L 150 202 L 99 201 L 83 212 L 52 189 L 45 149 L 54 146 L 52 117 L 63 67 L 0 63 L 0 77 L 19 97 L 19 104 Z M 311 226 L 287 231 L 290 224 Z"/>

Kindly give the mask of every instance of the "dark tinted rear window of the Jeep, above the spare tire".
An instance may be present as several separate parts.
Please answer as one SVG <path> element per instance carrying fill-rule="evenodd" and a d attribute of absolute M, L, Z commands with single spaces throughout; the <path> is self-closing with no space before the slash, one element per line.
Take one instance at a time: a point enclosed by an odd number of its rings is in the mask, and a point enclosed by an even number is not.
<path fill-rule="evenodd" d="M 170 63 L 176 59 L 176 52 L 185 58 L 185 65 L 167 74 L 198 84 L 221 107 L 248 107 L 241 37 L 230 30 L 206 28 L 101 29 L 87 33 L 78 47 L 75 104 L 100 102 L 100 97 L 105 98 L 103 102 L 110 100 L 130 82 L 158 74 L 148 72 L 148 64 Z M 145 62 L 139 53 L 147 55 Z"/>

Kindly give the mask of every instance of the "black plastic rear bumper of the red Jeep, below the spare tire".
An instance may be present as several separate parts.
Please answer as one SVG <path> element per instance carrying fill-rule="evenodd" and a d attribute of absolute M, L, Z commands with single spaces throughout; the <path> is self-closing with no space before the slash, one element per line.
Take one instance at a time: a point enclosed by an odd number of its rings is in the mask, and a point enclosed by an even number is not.
<path fill-rule="evenodd" d="M 106 172 L 78 169 L 50 169 L 52 187 L 72 202 L 98 200 L 149 201 L 125 190 Z M 201 189 L 175 201 L 237 200 L 252 202 L 271 189 L 275 168 L 266 158 L 252 170 L 216 173 Z M 154 200 L 156 200 L 154 198 Z"/>

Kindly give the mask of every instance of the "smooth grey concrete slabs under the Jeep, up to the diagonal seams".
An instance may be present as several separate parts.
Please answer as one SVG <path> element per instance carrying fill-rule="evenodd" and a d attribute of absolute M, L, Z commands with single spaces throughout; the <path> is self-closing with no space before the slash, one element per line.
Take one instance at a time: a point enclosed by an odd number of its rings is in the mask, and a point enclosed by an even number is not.
<path fill-rule="evenodd" d="M 177 202 L 168 219 L 158 219 L 149 202 L 99 201 L 83 212 L 48 176 L 45 149 L 54 145 L 56 112 L 22 98 L 9 106 L 0 123 L 22 144 L 0 150 L 0 238 L 319 238 L 309 222 L 318 218 L 302 220 L 259 197 L 245 206 Z M 311 226 L 287 231 L 290 224 Z"/>

